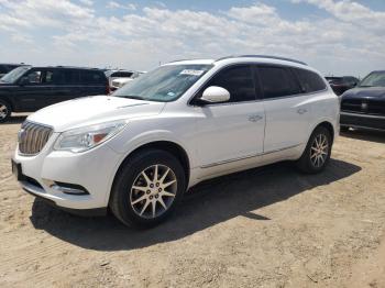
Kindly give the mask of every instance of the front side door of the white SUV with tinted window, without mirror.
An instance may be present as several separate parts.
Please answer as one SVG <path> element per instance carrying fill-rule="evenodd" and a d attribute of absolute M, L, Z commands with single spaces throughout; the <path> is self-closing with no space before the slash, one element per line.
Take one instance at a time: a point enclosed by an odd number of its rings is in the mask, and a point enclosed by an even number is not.
<path fill-rule="evenodd" d="M 196 107 L 196 153 L 200 167 L 226 169 L 263 152 L 265 114 L 263 102 L 257 99 L 254 70 L 249 65 L 237 65 L 219 71 L 198 92 L 210 86 L 219 86 L 230 92 L 230 100 Z"/>

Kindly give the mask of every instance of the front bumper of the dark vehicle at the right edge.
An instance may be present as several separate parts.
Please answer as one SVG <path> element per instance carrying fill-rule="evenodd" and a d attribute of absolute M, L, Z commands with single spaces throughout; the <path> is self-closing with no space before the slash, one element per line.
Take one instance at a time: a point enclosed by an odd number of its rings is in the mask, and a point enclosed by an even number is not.
<path fill-rule="evenodd" d="M 341 112 L 341 126 L 385 131 L 385 117 Z"/>

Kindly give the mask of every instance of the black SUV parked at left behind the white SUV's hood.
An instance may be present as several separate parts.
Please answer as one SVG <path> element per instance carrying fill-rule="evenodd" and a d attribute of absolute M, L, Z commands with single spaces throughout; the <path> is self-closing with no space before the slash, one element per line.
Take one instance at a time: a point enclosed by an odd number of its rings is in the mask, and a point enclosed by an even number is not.
<path fill-rule="evenodd" d="M 21 66 L 0 79 L 0 122 L 11 112 L 34 112 L 69 99 L 109 92 L 108 79 L 100 69 Z"/>

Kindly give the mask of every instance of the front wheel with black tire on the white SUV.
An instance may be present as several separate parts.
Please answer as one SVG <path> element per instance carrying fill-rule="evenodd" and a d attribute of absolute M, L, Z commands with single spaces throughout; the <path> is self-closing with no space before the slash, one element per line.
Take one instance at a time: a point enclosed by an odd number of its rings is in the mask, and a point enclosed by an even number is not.
<path fill-rule="evenodd" d="M 112 213 L 128 226 L 151 228 L 165 221 L 186 189 L 185 170 L 179 160 L 167 152 L 147 149 L 123 165 L 111 191 Z"/>

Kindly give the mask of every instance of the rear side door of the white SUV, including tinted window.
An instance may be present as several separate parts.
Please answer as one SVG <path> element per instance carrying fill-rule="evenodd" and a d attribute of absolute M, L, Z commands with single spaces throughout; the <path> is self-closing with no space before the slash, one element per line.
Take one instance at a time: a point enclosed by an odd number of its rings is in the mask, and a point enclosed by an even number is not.
<path fill-rule="evenodd" d="M 311 106 L 294 71 L 284 66 L 257 66 L 266 112 L 264 152 L 306 143 Z"/>

